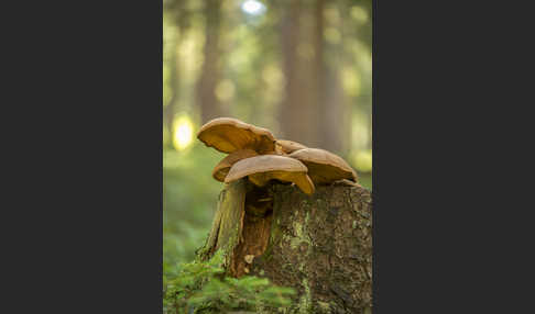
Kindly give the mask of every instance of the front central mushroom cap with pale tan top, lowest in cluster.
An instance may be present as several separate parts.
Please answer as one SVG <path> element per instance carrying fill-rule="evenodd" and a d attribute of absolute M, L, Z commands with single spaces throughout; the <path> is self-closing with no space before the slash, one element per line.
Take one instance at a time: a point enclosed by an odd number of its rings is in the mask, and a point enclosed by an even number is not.
<path fill-rule="evenodd" d="M 307 176 L 307 168 L 303 162 L 285 156 L 263 155 L 242 159 L 236 162 L 225 178 L 225 182 L 249 176 L 249 180 L 263 187 L 272 179 L 294 182 L 303 192 L 312 194 L 315 187 Z"/>

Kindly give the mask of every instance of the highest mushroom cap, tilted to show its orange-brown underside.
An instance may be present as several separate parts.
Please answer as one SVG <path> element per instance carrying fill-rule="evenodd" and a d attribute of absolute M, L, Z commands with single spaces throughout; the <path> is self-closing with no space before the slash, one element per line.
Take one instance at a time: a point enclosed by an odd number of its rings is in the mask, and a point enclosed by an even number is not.
<path fill-rule="evenodd" d="M 203 125 L 197 138 L 221 153 L 250 148 L 260 154 L 275 150 L 275 137 L 263 127 L 233 117 L 216 117 Z"/>

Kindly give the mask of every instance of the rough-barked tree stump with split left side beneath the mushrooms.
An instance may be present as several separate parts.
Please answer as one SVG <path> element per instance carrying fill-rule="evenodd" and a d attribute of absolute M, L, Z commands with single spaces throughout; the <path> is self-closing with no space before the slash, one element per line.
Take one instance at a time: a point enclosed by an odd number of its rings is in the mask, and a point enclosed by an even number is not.
<path fill-rule="evenodd" d="M 230 276 L 294 288 L 290 313 L 371 313 L 371 194 L 358 184 L 306 195 L 295 186 L 238 180 L 221 191 L 199 257 L 222 249 Z"/>

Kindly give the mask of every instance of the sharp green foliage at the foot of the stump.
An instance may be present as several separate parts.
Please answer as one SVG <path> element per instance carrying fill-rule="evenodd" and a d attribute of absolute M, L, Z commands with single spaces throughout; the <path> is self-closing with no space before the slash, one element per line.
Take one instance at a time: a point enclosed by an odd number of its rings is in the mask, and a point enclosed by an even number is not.
<path fill-rule="evenodd" d="M 217 251 L 206 262 L 181 265 L 175 278 L 164 279 L 164 313 L 226 313 L 291 305 L 293 289 L 273 285 L 266 278 L 226 277 L 222 261 L 222 254 Z"/>

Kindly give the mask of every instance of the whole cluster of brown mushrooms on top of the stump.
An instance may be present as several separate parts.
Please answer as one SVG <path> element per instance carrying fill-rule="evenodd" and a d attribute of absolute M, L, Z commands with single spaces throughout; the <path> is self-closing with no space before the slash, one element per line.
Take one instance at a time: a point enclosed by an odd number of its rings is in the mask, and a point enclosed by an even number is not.
<path fill-rule="evenodd" d="M 303 144 L 276 139 L 263 127 L 233 117 L 217 117 L 200 127 L 197 138 L 229 154 L 212 171 L 214 179 L 232 182 L 245 178 L 256 187 L 270 181 L 292 183 L 313 194 L 315 186 L 357 182 L 354 170 L 339 156 Z"/>

